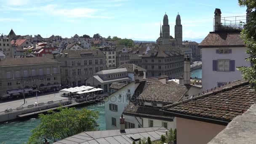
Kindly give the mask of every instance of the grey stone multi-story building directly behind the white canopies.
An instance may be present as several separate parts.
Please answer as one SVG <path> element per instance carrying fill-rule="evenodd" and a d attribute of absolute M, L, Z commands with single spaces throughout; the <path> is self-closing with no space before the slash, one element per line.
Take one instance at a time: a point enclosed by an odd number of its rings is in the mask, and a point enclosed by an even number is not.
<path fill-rule="evenodd" d="M 98 49 L 64 50 L 55 56 L 61 62 L 61 84 L 85 85 L 94 73 L 106 69 L 106 57 Z"/>

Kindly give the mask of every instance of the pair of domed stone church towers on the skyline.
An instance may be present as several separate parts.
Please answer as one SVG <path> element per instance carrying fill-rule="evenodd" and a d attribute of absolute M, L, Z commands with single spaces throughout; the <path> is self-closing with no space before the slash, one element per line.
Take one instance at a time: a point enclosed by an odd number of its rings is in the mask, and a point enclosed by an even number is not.
<path fill-rule="evenodd" d="M 163 34 L 162 34 L 163 30 Z M 170 35 L 170 25 L 168 21 L 168 16 L 165 13 L 163 16 L 163 25 L 160 27 L 160 37 L 157 39 L 158 45 L 171 45 L 173 47 L 182 47 L 182 25 L 181 25 L 181 16 L 176 16 L 176 25 L 175 25 L 175 38 Z"/>

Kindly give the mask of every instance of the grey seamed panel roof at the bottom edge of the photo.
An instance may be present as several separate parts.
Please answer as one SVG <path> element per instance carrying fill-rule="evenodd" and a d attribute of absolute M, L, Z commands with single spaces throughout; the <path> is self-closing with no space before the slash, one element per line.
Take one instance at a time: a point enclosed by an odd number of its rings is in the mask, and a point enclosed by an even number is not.
<path fill-rule="evenodd" d="M 166 128 L 131 128 L 125 129 L 124 133 L 120 130 L 108 131 L 85 131 L 66 139 L 62 139 L 53 144 L 132 144 L 133 137 L 150 137 L 152 141 L 160 140 L 161 135 L 165 135 Z"/>

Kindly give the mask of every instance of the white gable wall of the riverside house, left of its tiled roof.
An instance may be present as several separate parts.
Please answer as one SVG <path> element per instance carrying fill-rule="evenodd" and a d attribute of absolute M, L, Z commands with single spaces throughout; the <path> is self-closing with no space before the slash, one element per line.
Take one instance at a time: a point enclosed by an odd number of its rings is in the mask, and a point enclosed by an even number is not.
<path fill-rule="evenodd" d="M 113 129 L 120 129 L 120 117 L 123 113 L 124 108 L 128 105 L 129 100 L 127 99 L 127 92 L 130 89 L 131 96 L 133 95 L 135 89 L 139 83 L 130 83 L 125 87 L 121 88 L 120 90 L 116 91 L 112 95 L 110 95 L 105 100 L 105 112 L 106 112 L 106 129 L 113 130 Z M 121 94 L 121 98 L 119 98 L 119 94 Z M 117 105 L 117 112 L 109 110 L 109 104 L 116 104 Z M 116 118 L 116 126 L 112 125 L 112 117 Z"/>

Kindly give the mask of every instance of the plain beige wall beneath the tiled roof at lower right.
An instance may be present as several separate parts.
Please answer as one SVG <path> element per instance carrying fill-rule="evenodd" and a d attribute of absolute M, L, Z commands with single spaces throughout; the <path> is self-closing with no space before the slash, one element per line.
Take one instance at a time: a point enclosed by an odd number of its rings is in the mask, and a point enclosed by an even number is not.
<path fill-rule="evenodd" d="M 207 144 L 226 126 L 176 117 L 177 144 Z"/>

